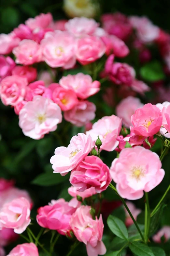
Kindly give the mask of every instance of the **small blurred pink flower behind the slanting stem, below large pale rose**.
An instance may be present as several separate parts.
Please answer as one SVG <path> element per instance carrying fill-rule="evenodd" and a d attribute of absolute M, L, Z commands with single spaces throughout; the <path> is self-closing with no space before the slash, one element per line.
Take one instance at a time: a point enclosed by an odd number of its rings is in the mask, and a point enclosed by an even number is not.
<path fill-rule="evenodd" d="M 132 202 L 126 202 L 126 204 L 127 204 L 128 208 L 129 208 L 129 210 L 131 211 L 131 213 L 132 213 L 134 219 L 137 220 L 137 216 L 139 215 L 139 213 L 142 212 L 142 210 L 137 209 L 137 208 L 135 207 L 135 204 L 133 204 Z M 126 227 L 129 227 L 129 226 L 131 226 L 132 224 L 134 224 L 134 222 L 133 222 L 131 216 L 129 215 L 129 213 L 128 213 L 128 211 L 126 210 L 125 207 L 124 207 L 124 210 L 125 210 L 125 214 L 126 214 L 125 225 L 126 225 Z"/>

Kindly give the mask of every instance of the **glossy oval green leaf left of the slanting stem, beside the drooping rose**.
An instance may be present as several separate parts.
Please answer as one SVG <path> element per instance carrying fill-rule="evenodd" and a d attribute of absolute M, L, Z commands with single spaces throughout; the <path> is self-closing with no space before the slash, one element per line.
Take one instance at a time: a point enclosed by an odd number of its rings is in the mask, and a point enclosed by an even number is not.
<path fill-rule="evenodd" d="M 122 220 L 115 216 L 109 215 L 107 218 L 107 225 L 115 235 L 122 239 L 128 240 L 128 231 Z"/>

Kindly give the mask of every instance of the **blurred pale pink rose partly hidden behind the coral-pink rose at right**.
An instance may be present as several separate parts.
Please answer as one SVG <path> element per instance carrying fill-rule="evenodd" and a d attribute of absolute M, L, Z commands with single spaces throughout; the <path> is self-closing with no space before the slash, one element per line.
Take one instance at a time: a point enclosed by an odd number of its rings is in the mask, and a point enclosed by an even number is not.
<path fill-rule="evenodd" d="M 117 105 L 116 115 L 122 119 L 122 124 L 129 128 L 132 125 L 131 116 L 135 113 L 136 109 L 142 108 L 143 105 L 139 98 L 128 96 Z"/>

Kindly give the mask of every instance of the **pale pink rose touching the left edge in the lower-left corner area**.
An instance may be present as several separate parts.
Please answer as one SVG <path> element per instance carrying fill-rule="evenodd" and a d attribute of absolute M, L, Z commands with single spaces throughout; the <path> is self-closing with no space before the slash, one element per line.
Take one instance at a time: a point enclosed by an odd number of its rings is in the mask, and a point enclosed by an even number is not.
<path fill-rule="evenodd" d="M 0 209 L 1 228 L 14 229 L 14 232 L 21 234 L 31 222 L 30 203 L 25 197 L 13 199 Z"/>

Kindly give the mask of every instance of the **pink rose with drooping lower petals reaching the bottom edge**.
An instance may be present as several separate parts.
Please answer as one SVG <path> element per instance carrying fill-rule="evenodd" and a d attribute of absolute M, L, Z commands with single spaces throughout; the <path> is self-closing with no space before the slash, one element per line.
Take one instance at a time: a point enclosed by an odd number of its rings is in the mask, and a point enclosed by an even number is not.
<path fill-rule="evenodd" d="M 102 242 L 104 229 L 102 215 L 100 215 L 99 219 L 96 216 L 95 220 L 93 220 L 90 211 L 90 206 L 80 206 L 73 213 L 70 226 L 78 241 L 86 245 L 88 256 L 104 255 L 106 247 Z"/>

